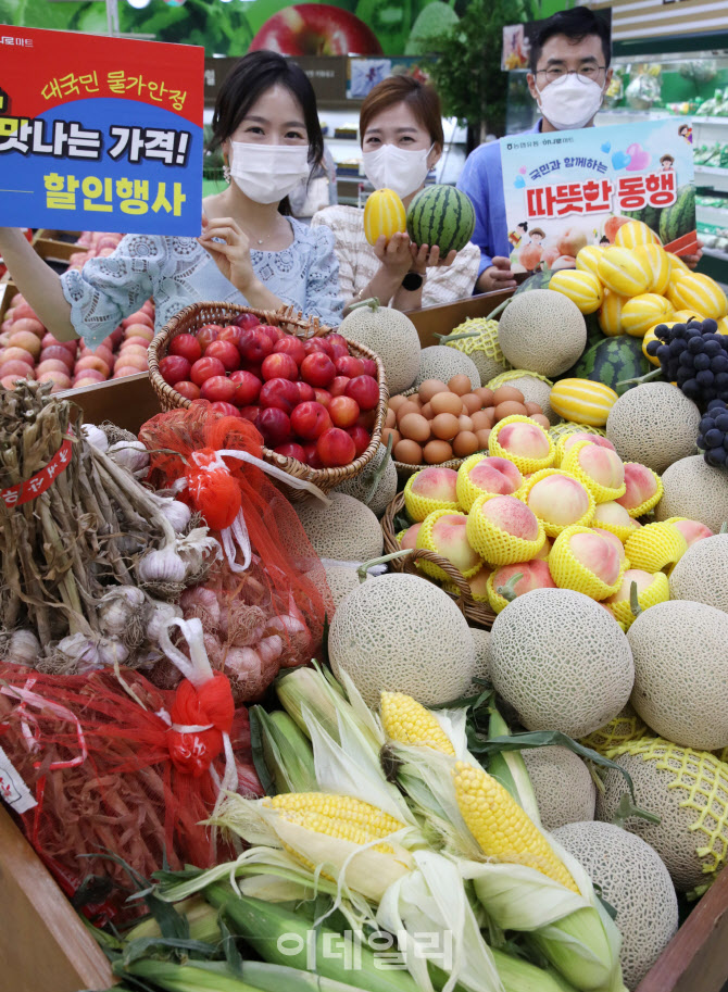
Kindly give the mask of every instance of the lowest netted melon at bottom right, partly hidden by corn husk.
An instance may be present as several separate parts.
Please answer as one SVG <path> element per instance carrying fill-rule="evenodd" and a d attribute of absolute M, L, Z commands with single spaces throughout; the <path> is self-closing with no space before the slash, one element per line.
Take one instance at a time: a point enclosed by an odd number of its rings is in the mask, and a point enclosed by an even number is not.
<path fill-rule="evenodd" d="M 614 824 L 572 823 L 555 830 L 554 838 L 617 911 L 622 977 L 628 989 L 636 989 L 677 931 L 669 871 L 654 847 Z"/>

